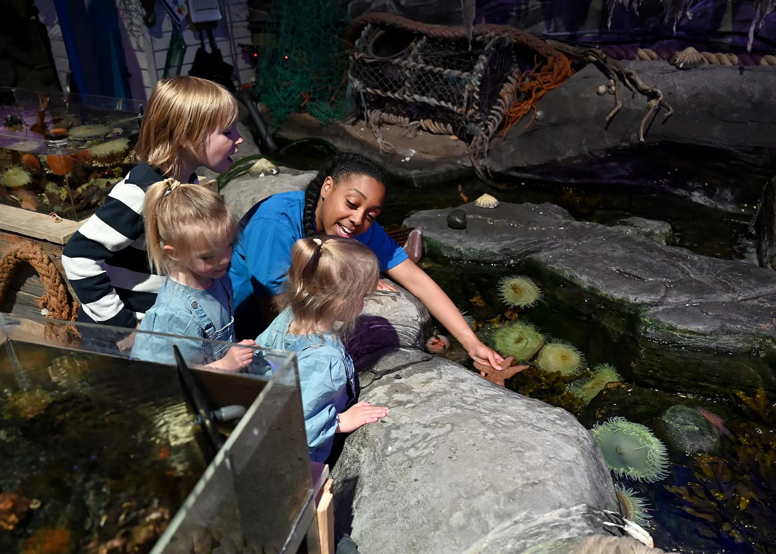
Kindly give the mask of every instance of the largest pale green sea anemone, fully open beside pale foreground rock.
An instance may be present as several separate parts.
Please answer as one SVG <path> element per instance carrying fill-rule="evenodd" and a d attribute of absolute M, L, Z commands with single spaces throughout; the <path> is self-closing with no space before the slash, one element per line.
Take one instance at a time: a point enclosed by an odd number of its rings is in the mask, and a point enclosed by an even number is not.
<path fill-rule="evenodd" d="M 666 447 L 649 428 L 624 417 L 611 417 L 590 430 L 607 466 L 617 476 L 653 483 L 667 476 Z"/>

